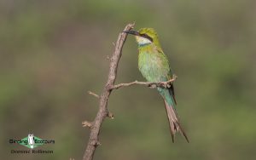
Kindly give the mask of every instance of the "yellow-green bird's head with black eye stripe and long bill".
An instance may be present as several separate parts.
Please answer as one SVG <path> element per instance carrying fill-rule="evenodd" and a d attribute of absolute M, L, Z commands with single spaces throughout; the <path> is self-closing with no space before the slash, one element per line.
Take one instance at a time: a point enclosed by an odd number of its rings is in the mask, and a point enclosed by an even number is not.
<path fill-rule="evenodd" d="M 124 31 L 125 33 L 134 35 L 136 37 L 139 46 L 148 45 L 154 43 L 157 47 L 160 47 L 158 35 L 153 28 L 141 28 L 139 31 Z"/>

